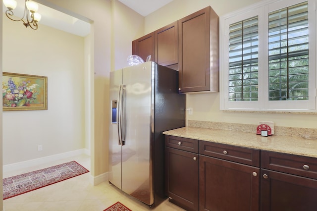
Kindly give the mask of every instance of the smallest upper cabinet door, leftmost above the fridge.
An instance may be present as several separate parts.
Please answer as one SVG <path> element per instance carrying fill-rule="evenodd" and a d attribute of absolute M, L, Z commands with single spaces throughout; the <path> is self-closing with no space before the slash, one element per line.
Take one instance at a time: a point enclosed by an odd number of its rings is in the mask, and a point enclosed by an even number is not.
<path fill-rule="evenodd" d="M 147 34 L 132 42 L 132 53 L 140 56 L 144 61 L 148 55 L 151 55 L 151 61 L 154 61 L 154 32 Z"/>

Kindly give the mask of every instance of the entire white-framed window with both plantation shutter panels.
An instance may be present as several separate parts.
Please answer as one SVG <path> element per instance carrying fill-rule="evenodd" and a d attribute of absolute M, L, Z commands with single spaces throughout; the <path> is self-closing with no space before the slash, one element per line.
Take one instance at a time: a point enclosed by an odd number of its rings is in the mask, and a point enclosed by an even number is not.
<path fill-rule="evenodd" d="M 317 0 L 220 17 L 220 109 L 317 112 Z"/>

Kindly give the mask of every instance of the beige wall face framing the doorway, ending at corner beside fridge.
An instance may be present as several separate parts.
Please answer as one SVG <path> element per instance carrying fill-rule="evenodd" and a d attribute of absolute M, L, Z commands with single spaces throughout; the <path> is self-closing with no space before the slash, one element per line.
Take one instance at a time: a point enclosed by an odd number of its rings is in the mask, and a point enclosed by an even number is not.
<path fill-rule="evenodd" d="M 107 93 L 110 71 L 111 1 L 110 0 L 39 0 L 67 14 L 75 13 L 89 18 L 92 23 L 91 46 L 91 174 L 97 176 L 107 171 L 108 104 Z"/>

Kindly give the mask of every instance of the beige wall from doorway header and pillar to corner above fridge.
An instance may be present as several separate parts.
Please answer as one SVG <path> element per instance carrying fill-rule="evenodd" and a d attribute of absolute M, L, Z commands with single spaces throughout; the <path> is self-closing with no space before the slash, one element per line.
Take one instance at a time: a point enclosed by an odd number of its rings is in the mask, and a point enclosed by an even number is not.
<path fill-rule="evenodd" d="M 127 66 L 131 42 L 144 31 L 144 18 L 117 0 L 37 0 L 92 23 L 91 68 L 91 174 L 108 170 L 109 72 Z"/>

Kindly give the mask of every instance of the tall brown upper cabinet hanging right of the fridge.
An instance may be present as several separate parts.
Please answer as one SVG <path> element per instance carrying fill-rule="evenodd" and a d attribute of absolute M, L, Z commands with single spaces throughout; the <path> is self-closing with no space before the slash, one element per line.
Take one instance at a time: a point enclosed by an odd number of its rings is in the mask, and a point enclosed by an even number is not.
<path fill-rule="evenodd" d="M 180 19 L 178 36 L 180 92 L 218 92 L 217 14 L 209 6 Z"/>

